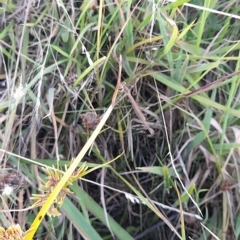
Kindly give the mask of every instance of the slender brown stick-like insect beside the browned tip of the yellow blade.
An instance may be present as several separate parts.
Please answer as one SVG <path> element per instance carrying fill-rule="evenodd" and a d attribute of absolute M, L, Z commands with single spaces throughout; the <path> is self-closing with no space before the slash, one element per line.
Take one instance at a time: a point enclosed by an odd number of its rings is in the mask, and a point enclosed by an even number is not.
<path fill-rule="evenodd" d="M 126 86 L 126 83 L 121 83 L 120 87 L 119 87 L 119 91 L 125 92 L 125 94 L 128 96 L 132 107 L 135 111 L 135 113 L 137 114 L 138 118 L 143 122 L 144 126 L 148 129 L 148 131 L 150 132 L 150 134 L 154 134 L 154 130 L 152 128 L 149 127 L 146 118 L 144 117 L 141 109 L 139 108 L 138 104 L 136 103 L 136 101 L 134 100 L 134 98 L 132 97 L 132 94 L 130 92 L 130 90 L 128 89 L 128 87 Z"/>

